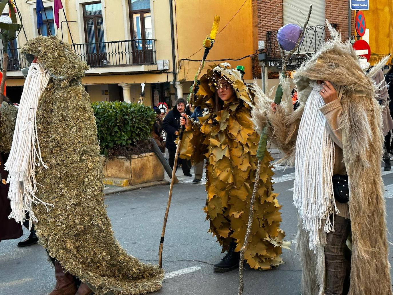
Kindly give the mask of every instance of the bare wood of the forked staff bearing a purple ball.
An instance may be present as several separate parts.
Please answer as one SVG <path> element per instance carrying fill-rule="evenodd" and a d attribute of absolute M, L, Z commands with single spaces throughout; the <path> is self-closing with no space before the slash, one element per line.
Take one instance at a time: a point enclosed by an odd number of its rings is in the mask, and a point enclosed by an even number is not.
<path fill-rule="evenodd" d="M 301 40 L 303 38 L 303 35 L 304 35 L 305 30 L 306 30 L 307 24 L 309 24 L 311 10 L 312 10 L 312 5 L 310 5 L 309 15 L 307 16 L 307 20 L 306 20 L 306 22 L 305 22 L 305 24 L 303 26 L 303 30 L 299 34 L 299 38 L 298 38 L 298 41 L 296 42 L 295 48 L 292 49 L 288 53 L 288 55 L 285 55 L 284 49 L 279 44 L 280 52 L 281 52 L 281 59 L 283 60 L 283 67 L 281 68 L 281 76 L 282 77 L 286 76 L 286 66 L 288 65 L 288 60 L 290 59 L 292 54 L 296 51 L 296 49 L 298 49 L 298 47 L 299 47 L 299 45 L 301 43 Z M 281 84 L 280 84 L 277 87 L 274 102 L 276 104 L 281 103 L 282 97 L 283 97 L 283 89 L 282 89 Z M 254 183 L 254 188 L 253 188 L 253 191 L 252 191 L 252 197 L 251 197 L 251 201 L 250 201 L 250 213 L 249 213 L 249 216 L 248 216 L 247 232 L 246 232 L 246 236 L 244 236 L 243 246 L 240 249 L 238 295 L 242 295 L 243 294 L 243 288 L 244 288 L 244 282 L 243 282 L 244 252 L 246 251 L 246 248 L 247 248 L 247 245 L 248 245 L 248 240 L 250 239 L 252 221 L 253 221 L 253 218 L 254 218 L 255 196 L 256 196 L 257 190 L 258 190 L 259 174 L 261 172 L 262 160 L 263 160 L 263 158 L 265 156 L 267 139 L 268 139 L 268 123 L 265 125 L 265 127 L 262 130 L 262 134 L 261 134 L 261 138 L 259 140 L 259 145 L 258 145 L 258 150 L 257 150 L 258 164 L 257 164 L 257 171 L 255 171 L 255 183 Z"/>

